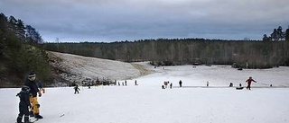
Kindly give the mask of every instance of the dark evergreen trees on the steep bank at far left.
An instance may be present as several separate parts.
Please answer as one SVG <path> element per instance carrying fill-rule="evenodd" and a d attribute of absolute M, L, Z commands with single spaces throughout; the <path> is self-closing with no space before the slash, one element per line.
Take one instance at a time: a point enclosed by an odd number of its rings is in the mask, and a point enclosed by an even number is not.
<path fill-rule="evenodd" d="M 33 72 L 43 83 L 51 81 L 42 37 L 31 25 L 0 13 L 0 87 L 23 85 Z"/>

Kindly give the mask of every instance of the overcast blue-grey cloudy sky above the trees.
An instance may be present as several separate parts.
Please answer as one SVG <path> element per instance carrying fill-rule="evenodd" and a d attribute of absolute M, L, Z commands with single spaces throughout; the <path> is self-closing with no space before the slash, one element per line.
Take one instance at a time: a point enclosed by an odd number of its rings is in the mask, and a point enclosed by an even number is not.
<path fill-rule="evenodd" d="M 44 41 L 262 40 L 289 25 L 289 0 L 0 0 Z"/>

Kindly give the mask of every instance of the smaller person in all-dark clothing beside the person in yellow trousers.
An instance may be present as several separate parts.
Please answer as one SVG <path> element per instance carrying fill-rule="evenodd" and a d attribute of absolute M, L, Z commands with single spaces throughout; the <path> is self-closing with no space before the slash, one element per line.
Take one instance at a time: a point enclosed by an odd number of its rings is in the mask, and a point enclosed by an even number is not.
<path fill-rule="evenodd" d="M 31 107 L 31 103 L 29 101 L 29 87 L 23 86 L 21 92 L 17 93 L 16 96 L 20 98 L 19 102 L 19 114 L 17 117 L 17 123 L 23 123 L 23 115 L 24 115 L 24 123 L 29 123 L 29 107 Z"/>

